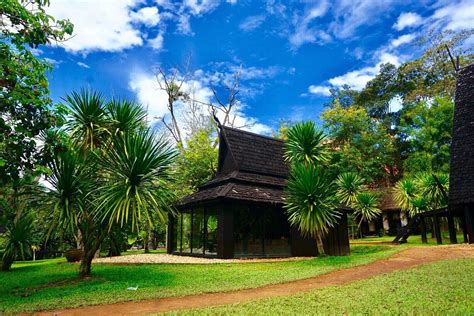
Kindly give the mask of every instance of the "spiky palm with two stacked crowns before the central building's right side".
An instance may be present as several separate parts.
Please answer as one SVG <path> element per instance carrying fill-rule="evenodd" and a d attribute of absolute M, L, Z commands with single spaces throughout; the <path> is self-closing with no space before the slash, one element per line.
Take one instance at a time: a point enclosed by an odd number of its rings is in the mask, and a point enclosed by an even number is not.
<path fill-rule="evenodd" d="M 341 215 L 334 203 L 333 181 L 321 167 L 329 161 L 324 140 L 314 122 L 298 123 L 288 131 L 285 152 L 292 165 L 285 201 L 289 221 L 302 234 L 316 238 L 319 254 L 324 254 L 324 234 Z"/>

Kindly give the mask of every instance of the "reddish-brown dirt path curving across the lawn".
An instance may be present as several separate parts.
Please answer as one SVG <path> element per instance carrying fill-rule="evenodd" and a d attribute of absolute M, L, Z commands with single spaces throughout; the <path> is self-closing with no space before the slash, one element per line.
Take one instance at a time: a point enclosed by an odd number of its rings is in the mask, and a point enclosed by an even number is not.
<path fill-rule="evenodd" d="M 388 272 L 410 269 L 429 262 L 457 258 L 474 258 L 474 245 L 408 248 L 388 259 L 378 260 L 367 265 L 333 271 L 309 279 L 267 285 L 255 289 L 96 305 L 43 312 L 36 315 L 140 315 L 234 304 L 255 299 L 291 295 L 331 285 L 343 285 Z"/>

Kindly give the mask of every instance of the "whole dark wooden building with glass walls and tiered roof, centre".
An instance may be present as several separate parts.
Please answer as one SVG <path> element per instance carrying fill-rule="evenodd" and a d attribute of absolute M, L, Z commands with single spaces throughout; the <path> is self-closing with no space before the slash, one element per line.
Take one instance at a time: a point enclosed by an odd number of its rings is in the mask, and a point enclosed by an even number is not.
<path fill-rule="evenodd" d="M 290 227 L 283 210 L 289 175 L 284 143 L 221 127 L 217 174 L 177 205 L 168 253 L 217 258 L 316 256 L 316 241 Z M 330 255 L 349 254 L 347 215 L 324 240 Z"/>

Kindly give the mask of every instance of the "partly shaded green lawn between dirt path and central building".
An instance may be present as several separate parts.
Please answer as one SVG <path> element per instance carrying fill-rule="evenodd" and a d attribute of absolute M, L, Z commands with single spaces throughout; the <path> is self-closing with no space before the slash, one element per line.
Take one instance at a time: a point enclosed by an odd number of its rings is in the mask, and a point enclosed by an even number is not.
<path fill-rule="evenodd" d="M 64 259 L 16 263 L 0 273 L 0 314 L 253 288 L 367 264 L 401 249 L 354 246 L 351 256 L 272 263 L 94 264 L 87 280 L 79 280 L 78 265 Z"/>

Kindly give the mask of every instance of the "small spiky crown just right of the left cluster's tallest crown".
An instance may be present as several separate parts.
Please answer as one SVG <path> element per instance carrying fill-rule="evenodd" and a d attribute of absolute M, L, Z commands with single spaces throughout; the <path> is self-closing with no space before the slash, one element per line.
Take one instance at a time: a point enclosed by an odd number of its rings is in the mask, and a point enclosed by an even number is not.
<path fill-rule="evenodd" d="M 113 99 L 107 103 L 106 113 L 112 135 L 136 131 L 145 126 L 147 113 L 135 102 Z"/>

